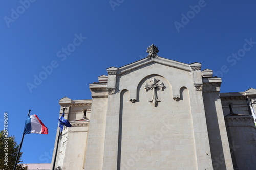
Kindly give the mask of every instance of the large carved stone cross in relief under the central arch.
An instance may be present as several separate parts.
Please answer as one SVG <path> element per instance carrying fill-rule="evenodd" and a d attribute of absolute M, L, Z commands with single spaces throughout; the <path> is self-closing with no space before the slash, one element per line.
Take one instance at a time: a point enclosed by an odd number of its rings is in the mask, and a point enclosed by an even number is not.
<path fill-rule="evenodd" d="M 157 84 L 157 83 L 159 82 L 159 80 L 158 80 L 158 79 L 155 79 L 155 78 L 151 79 L 150 82 L 151 82 L 152 84 L 146 83 L 146 85 L 145 85 L 144 88 L 146 89 L 146 91 L 148 91 L 148 90 L 153 90 L 153 96 L 152 96 L 152 99 L 151 99 L 150 102 L 152 102 L 152 104 L 153 104 L 154 106 L 156 106 L 156 105 L 158 104 L 158 102 L 161 102 L 161 101 L 157 98 L 157 90 L 159 90 L 159 89 L 163 90 L 164 85 L 163 85 L 163 83 Z"/>

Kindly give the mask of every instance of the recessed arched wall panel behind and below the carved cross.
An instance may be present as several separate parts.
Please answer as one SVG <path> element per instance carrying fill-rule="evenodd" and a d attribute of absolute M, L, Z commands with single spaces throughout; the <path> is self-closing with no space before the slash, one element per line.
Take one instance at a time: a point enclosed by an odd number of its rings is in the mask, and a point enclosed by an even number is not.
<path fill-rule="evenodd" d="M 153 77 L 165 85 L 164 91 L 157 91 L 161 100 L 157 107 L 148 102 L 153 91 L 144 89 Z M 121 92 L 121 169 L 197 169 L 188 89 L 182 94 L 182 100 L 175 101 L 170 83 L 154 75 L 140 82 L 139 102 L 131 103 L 129 92 Z"/>

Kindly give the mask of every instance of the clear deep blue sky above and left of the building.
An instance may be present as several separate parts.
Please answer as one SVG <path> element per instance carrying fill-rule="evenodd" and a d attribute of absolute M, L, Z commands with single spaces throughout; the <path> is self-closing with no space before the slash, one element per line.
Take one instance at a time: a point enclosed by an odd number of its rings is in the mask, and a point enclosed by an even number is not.
<path fill-rule="evenodd" d="M 1 129 L 8 112 L 19 143 L 29 109 L 49 129 L 25 135 L 24 163 L 51 163 L 59 99 L 91 99 L 89 83 L 152 43 L 160 57 L 214 70 L 221 92 L 256 88 L 255 1 L 30 1 L 0 2 Z"/>

